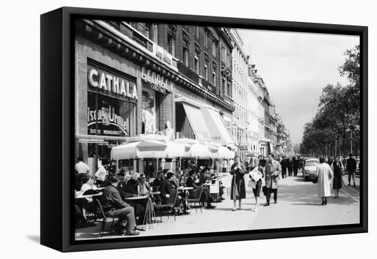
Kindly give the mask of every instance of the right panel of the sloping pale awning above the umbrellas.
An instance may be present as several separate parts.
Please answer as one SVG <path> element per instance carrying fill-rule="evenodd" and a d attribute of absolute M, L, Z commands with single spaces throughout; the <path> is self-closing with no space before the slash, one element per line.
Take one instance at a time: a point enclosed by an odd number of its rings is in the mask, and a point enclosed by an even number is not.
<path fill-rule="evenodd" d="M 232 146 L 236 145 L 232 135 L 226 128 L 226 124 L 221 118 L 220 113 L 210 107 L 203 107 L 200 109 L 207 123 L 212 141 L 220 143 L 221 145 Z"/>

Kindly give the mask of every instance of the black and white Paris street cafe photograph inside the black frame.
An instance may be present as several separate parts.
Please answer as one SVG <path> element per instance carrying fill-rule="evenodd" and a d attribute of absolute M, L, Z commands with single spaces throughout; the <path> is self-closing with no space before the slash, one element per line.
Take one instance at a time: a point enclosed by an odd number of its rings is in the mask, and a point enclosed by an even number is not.
<path fill-rule="evenodd" d="M 74 240 L 361 223 L 361 38 L 73 21 Z"/>

